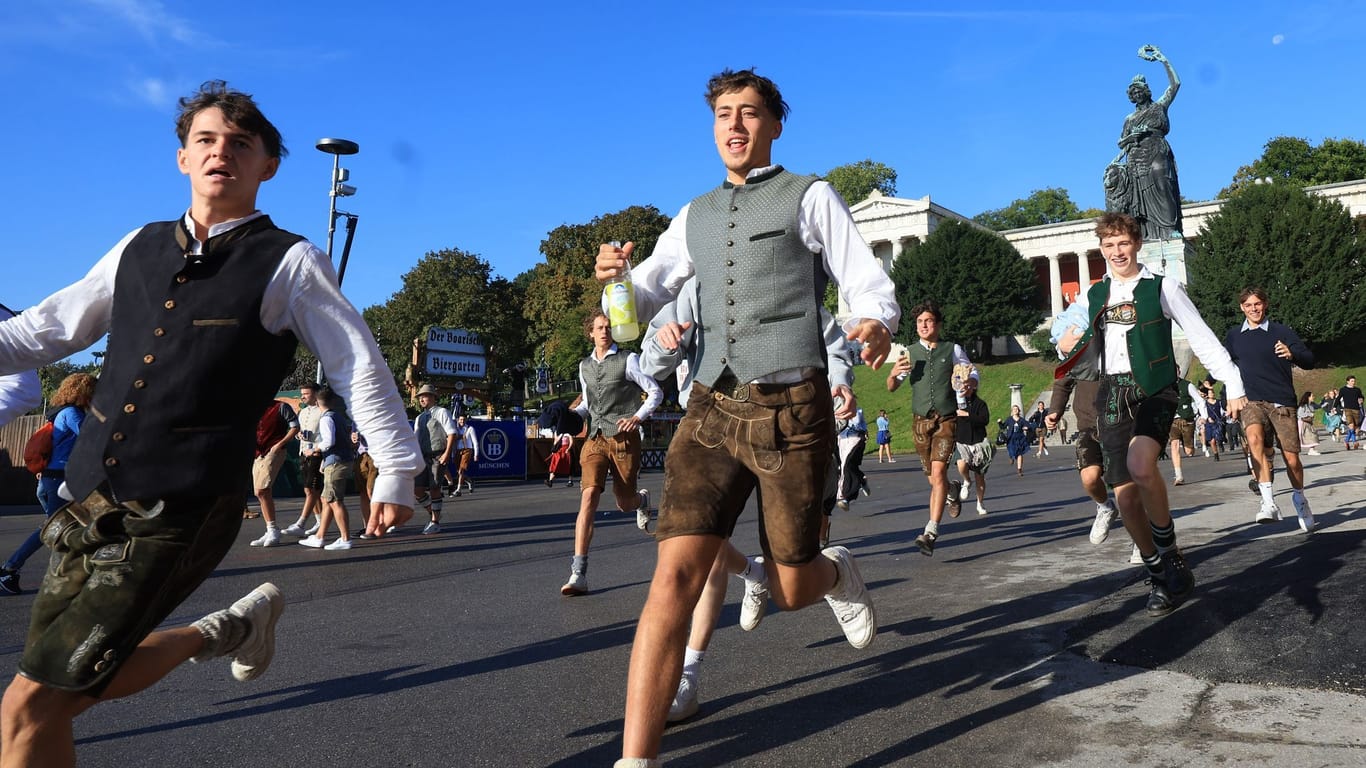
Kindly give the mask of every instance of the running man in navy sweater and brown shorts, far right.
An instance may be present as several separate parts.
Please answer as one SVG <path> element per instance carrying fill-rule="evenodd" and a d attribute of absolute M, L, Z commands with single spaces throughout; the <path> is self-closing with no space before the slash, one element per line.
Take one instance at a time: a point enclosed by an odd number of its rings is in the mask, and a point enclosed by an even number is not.
<path fill-rule="evenodd" d="M 1243 310 L 1243 324 L 1228 329 L 1224 346 L 1238 364 L 1247 387 L 1247 407 L 1240 420 L 1247 440 L 1247 455 L 1257 473 L 1257 491 L 1262 496 L 1257 522 L 1270 523 L 1280 519 L 1280 507 L 1272 496 L 1272 469 L 1266 455 L 1272 452 L 1270 435 L 1281 447 L 1285 459 L 1285 476 L 1295 489 L 1291 504 L 1299 517 L 1299 529 L 1309 533 L 1318 527 L 1314 512 L 1305 499 L 1305 465 L 1299 461 L 1299 414 L 1295 398 L 1294 366 L 1305 370 L 1314 368 L 1314 353 L 1309 350 L 1299 333 L 1287 325 L 1266 317 L 1270 302 L 1266 291 L 1246 288 L 1238 297 Z M 1274 454 L 1273 454 L 1274 455 Z"/>

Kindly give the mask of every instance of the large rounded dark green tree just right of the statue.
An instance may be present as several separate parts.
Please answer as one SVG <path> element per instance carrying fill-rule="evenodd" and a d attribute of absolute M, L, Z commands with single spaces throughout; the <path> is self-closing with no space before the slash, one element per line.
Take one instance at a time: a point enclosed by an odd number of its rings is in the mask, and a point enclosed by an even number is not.
<path fill-rule="evenodd" d="M 1335 200 L 1292 183 L 1249 186 L 1205 223 L 1195 250 L 1188 292 L 1220 338 L 1243 321 L 1238 294 L 1251 286 L 1311 344 L 1366 329 L 1366 242 Z"/>

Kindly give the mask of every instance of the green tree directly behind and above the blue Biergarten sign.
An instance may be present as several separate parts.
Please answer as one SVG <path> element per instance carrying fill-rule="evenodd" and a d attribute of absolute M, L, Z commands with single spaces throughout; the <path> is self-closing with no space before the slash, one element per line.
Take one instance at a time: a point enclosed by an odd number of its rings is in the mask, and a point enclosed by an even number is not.
<path fill-rule="evenodd" d="M 526 359 L 529 346 L 518 317 L 520 291 L 494 277 L 488 261 L 459 249 L 429 251 L 403 276 L 403 288 L 388 302 L 367 307 L 366 324 L 384 359 L 402 381 L 413 359 L 413 340 L 429 325 L 478 333 L 489 353 L 489 370 Z"/>

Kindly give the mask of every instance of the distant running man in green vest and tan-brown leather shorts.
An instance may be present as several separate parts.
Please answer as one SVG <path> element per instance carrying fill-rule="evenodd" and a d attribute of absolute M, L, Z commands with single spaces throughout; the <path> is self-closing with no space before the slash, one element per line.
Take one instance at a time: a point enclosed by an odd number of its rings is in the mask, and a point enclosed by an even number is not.
<path fill-rule="evenodd" d="M 944 519 L 944 503 L 953 506 L 958 517 L 960 482 L 949 482 L 948 465 L 958 455 L 958 398 L 953 392 L 953 366 L 971 365 L 963 347 L 940 340 L 944 313 L 933 301 L 911 307 L 915 333 L 919 340 L 907 348 L 887 376 L 887 391 L 895 392 L 902 381 L 911 380 L 911 409 L 915 411 L 912 429 L 915 452 L 921 467 L 930 480 L 930 522 L 915 537 L 923 555 L 934 555 L 938 523 Z M 977 370 L 971 373 L 977 379 Z"/>

